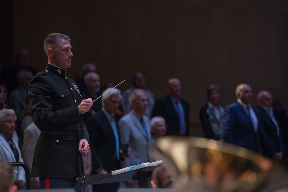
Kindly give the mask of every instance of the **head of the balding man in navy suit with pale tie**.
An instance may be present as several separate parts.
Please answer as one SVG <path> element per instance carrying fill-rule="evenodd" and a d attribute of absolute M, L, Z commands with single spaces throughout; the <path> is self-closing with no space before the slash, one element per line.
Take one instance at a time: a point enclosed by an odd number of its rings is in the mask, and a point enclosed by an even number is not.
<path fill-rule="evenodd" d="M 248 105 L 251 104 L 253 99 L 252 89 L 248 84 L 241 83 L 237 85 L 236 90 L 236 97 L 240 99 L 244 104 Z"/>

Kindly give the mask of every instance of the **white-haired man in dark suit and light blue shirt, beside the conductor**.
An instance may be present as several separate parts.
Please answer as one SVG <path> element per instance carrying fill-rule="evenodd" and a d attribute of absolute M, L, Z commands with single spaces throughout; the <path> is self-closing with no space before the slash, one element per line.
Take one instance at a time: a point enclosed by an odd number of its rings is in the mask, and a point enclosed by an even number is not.
<path fill-rule="evenodd" d="M 107 88 L 104 92 L 111 90 Z M 106 174 L 120 169 L 122 156 L 118 120 L 114 116 L 121 99 L 114 88 L 102 96 L 103 108 L 91 115 L 86 123 L 92 152 L 92 174 Z M 117 191 L 119 183 L 93 185 L 93 191 Z"/>

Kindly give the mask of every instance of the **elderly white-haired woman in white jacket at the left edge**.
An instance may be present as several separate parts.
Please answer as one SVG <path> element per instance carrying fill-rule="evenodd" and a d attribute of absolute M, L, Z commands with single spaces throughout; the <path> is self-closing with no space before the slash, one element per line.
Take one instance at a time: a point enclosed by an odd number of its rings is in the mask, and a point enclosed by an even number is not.
<path fill-rule="evenodd" d="M 13 109 L 0 110 L 0 159 L 7 162 L 23 162 L 18 143 L 12 137 L 15 130 L 16 115 Z M 14 181 L 18 189 L 25 185 L 25 171 L 22 167 L 13 167 Z"/>

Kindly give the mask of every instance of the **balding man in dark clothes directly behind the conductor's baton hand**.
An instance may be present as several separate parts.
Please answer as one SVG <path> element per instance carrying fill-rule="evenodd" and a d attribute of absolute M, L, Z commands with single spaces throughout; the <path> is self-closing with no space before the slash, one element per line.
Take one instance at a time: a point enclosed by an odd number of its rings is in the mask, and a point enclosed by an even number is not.
<path fill-rule="evenodd" d="M 84 76 L 84 83 L 86 90 L 81 93 L 82 99 L 91 98 L 94 101 L 96 98 L 102 95 L 102 91 L 100 90 L 100 77 L 97 73 L 89 72 Z M 85 120 L 90 117 L 90 115 L 95 114 L 102 107 L 101 99 L 97 99 L 94 101 L 90 111 L 83 114 Z"/>

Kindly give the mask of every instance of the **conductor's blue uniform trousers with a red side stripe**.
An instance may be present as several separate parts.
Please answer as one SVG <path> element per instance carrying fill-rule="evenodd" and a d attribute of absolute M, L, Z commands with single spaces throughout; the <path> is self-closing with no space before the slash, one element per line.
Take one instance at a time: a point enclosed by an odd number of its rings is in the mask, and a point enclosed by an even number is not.
<path fill-rule="evenodd" d="M 81 192 L 81 186 L 77 186 L 76 178 L 55 178 L 55 177 L 39 177 L 40 189 L 74 189 Z"/>

